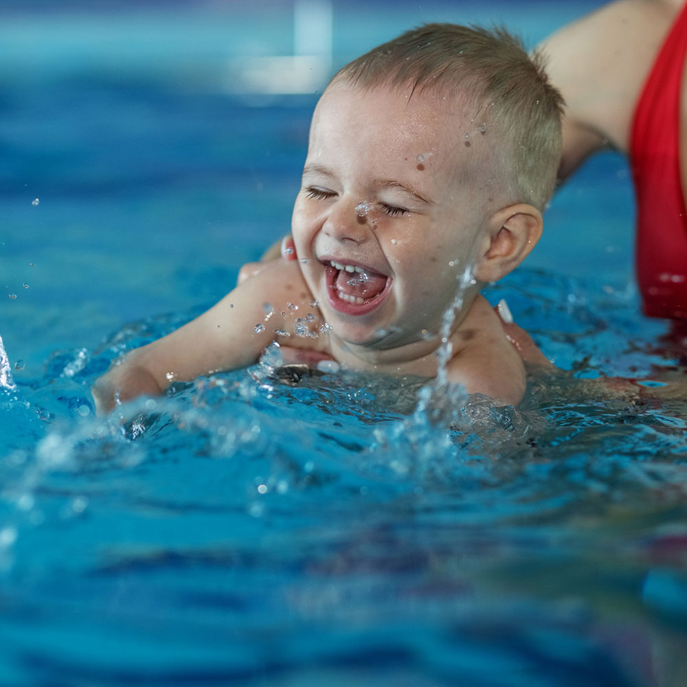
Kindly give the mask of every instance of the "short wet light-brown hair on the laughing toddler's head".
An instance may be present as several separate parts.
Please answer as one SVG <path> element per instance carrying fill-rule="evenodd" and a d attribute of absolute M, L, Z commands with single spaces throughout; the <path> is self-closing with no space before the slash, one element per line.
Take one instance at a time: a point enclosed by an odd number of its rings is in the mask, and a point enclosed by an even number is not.
<path fill-rule="evenodd" d="M 499 135 L 492 148 L 512 201 L 543 210 L 551 198 L 563 145 L 563 98 L 541 54 L 528 54 L 506 30 L 426 24 L 353 60 L 331 83 L 462 99 L 473 117 L 471 131 Z"/>

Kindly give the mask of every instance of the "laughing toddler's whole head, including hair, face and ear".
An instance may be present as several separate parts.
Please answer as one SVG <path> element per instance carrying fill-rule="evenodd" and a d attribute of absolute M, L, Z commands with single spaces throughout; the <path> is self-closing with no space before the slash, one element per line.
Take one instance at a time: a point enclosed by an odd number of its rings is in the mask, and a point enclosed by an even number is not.
<path fill-rule="evenodd" d="M 292 227 L 339 336 L 421 351 L 469 262 L 478 282 L 519 264 L 552 192 L 560 104 L 504 32 L 429 25 L 339 71 L 313 115 Z"/>

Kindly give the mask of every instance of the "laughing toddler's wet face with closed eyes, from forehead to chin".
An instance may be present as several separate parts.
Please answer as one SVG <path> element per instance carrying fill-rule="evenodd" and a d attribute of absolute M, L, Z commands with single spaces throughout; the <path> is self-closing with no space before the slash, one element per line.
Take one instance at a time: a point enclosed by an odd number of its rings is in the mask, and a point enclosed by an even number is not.
<path fill-rule="evenodd" d="M 333 333 L 376 349 L 438 333 L 493 203 L 479 123 L 409 95 L 330 87 L 293 210 L 302 273 Z"/>

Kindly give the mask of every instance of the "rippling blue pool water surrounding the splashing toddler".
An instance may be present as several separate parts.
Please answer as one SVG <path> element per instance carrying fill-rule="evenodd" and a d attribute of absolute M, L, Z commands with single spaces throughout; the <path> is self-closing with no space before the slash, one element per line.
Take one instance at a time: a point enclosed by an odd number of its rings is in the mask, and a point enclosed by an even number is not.
<path fill-rule="evenodd" d="M 596 5 L 335 3 L 334 63 Z M 687 684 L 684 346 L 639 314 L 622 159 L 488 289 L 565 372 L 518 409 L 268 356 L 95 418 L 288 229 L 316 96 L 223 85 L 292 49 L 288 3 L 0 12 L 0 684 Z"/>

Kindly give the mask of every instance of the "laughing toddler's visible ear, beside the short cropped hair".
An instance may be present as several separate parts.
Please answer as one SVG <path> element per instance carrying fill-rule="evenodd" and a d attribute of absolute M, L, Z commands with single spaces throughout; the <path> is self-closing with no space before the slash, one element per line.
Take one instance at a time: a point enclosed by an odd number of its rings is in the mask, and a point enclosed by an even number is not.
<path fill-rule="evenodd" d="M 475 279 L 496 282 L 515 269 L 541 237 L 541 212 L 533 205 L 509 205 L 493 214 L 482 238 Z"/>

